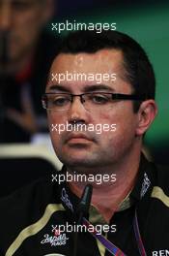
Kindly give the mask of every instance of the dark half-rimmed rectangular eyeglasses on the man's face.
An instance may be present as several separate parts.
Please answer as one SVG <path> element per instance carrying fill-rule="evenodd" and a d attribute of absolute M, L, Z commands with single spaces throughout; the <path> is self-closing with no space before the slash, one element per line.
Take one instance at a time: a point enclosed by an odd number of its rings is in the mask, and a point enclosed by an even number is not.
<path fill-rule="evenodd" d="M 144 95 L 89 92 L 83 94 L 45 93 L 42 95 L 42 107 L 56 112 L 69 111 L 74 97 L 80 97 L 80 102 L 87 111 L 106 111 L 113 108 L 116 101 L 144 101 Z"/>

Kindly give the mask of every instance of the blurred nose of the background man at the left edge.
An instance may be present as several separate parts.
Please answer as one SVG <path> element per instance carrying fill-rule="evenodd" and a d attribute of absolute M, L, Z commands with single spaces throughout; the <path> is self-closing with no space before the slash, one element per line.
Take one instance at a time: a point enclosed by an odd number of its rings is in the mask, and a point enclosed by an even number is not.
<path fill-rule="evenodd" d="M 0 30 L 8 31 L 12 24 L 12 10 L 10 5 L 7 3 L 0 4 Z"/>

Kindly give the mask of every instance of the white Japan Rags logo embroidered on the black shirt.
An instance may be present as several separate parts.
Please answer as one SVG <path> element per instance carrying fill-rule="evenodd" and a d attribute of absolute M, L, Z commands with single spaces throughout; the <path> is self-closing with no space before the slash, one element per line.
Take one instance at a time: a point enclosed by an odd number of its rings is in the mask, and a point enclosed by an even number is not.
<path fill-rule="evenodd" d="M 69 238 L 67 238 L 67 235 L 65 233 L 61 234 L 61 232 L 57 229 L 57 226 L 52 225 L 51 227 L 53 234 L 45 234 L 41 243 L 50 243 L 51 246 L 66 245 L 67 240 L 69 240 Z"/>

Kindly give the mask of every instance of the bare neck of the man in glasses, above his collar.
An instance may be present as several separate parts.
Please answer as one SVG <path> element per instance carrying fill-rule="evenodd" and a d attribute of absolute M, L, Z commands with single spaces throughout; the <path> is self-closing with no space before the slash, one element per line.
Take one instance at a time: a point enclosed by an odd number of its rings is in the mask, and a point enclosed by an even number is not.
<path fill-rule="evenodd" d="M 120 161 L 120 164 L 112 166 L 113 172 L 116 175 L 114 182 L 70 182 L 70 190 L 81 197 L 82 191 L 87 183 L 93 185 L 92 204 L 99 210 L 106 222 L 109 222 L 114 212 L 118 210 L 120 204 L 127 197 L 135 184 L 138 174 L 140 153 L 135 153 L 134 156 Z M 72 170 L 68 170 L 72 172 Z M 105 170 L 104 170 L 105 173 Z"/>

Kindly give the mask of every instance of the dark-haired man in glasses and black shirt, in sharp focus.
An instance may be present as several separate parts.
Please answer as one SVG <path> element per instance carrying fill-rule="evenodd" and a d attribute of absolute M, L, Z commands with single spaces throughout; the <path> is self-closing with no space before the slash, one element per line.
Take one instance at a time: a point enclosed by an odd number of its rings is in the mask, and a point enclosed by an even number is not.
<path fill-rule="evenodd" d="M 1 201 L 2 255 L 168 255 L 168 175 L 141 153 L 156 114 L 143 48 L 115 31 L 70 34 L 42 104 L 64 168 Z"/>

